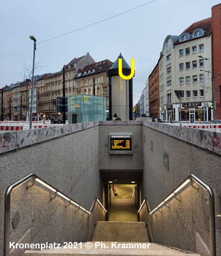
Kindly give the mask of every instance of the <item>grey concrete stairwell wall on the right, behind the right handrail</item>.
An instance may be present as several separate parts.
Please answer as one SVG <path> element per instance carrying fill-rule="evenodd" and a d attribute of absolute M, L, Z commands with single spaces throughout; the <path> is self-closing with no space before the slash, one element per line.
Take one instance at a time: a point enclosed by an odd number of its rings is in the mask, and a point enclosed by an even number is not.
<path fill-rule="evenodd" d="M 214 143 L 218 136 L 219 134 L 208 131 L 144 122 L 145 157 L 141 187 L 142 199 L 148 200 L 151 210 L 190 174 L 204 180 L 221 195 L 220 148 Z M 164 166 L 164 152 L 169 155 L 169 170 Z M 181 202 L 172 198 L 169 201 L 170 209 L 162 207 L 163 213 L 158 211 L 153 219 L 147 218 L 145 211 L 141 212 L 141 220 L 149 222 L 155 243 L 197 252 L 198 233 L 209 247 L 201 190 L 187 186 L 180 196 Z M 220 246 L 221 233 L 217 229 L 217 255 L 221 253 Z"/>

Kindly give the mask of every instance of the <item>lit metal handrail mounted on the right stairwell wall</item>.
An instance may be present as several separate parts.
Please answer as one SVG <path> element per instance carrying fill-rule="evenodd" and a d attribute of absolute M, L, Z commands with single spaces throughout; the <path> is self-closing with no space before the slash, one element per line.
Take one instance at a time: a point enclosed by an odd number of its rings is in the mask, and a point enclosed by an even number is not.
<path fill-rule="evenodd" d="M 169 198 L 172 198 L 172 196 L 176 196 L 176 193 L 179 191 L 179 189 L 183 188 L 183 185 L 187 185 L 188 182 L 187 180 L 189 180 L 191 183 L 191 186 L 193 188 L 195 188 L 192 185 L 192 180 L 195 180 L 195 182 L 197 182 L 199 185 L 202 186 L 202 188 L 206 189 L 207 193 L 208 193 L 208 198 L 209 198 L 209 209 L 210 209 L 210 256 L 216 256 L 216 228 L 215 228 L 215 202 L 214 202 L 214 193 L 213 193 L 213 189 L 208 186 L 205 182 L 203 182 L 201 179 L 199 179 L 197 176 L 195 176 L 194 174 L 191 174 L 187 177 L 187 179 L 185 179 L 181 184 L 179 184 L 179 186 L 174 189 L 169 195 L 167 195 L 164 200 L 162 200 L 162 202 L 160 202 L 160 204 L 158 204 L 158 206 L 151 212 L 149 212 L 149 207 L 148 207 L 148 202 L 146 201 L 146 198 L 144 199 L 144 201 L 142 202 L 142 205 L 138 211 L 138 213 L 141 211 L 142 207 L 144 207 L 144 205 L 147 205 L 148 208 L 148 213 L 154 214 L 154 212 L 156 210 L 158 210 L 160 207 L 162 207 L 162 205 L 164 205 L 164 203 L 169 200 Z M 196 188 L 197 189 L 197 188 Z M 146 204 L 145 204 L 146 203 Z M 167 205 L 165 205 L 167 206 Z M 167 206 L 168 207 L 168 206 Z M 152 215 L 151 215 L 152 216 Z"/>

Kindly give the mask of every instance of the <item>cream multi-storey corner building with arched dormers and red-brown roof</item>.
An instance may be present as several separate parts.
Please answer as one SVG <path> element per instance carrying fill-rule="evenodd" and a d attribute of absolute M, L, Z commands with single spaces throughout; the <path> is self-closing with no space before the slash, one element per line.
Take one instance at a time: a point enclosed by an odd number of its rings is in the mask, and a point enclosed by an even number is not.
<path fill-rule="evenodd" d="M 205 83 L 206 121 L 211 120 L 212 70 L 211 18 L 195 22 L 179 36 L 167 36 L 159 60 L 160 116 L 164 120 L 203 120 Z M 183 90 L 181 109 L 174 90 Z"/>

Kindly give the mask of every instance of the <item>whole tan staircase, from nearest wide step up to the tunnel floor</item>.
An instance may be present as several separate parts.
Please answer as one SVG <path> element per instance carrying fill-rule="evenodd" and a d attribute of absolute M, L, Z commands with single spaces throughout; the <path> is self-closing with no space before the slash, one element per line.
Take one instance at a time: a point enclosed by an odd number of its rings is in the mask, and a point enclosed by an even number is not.
<path fill-rule="evenodd" d="M 149 243 L 144 222 L 98 221 L 91 242 L 74 244 L 75 248 L 26 250 L 22 256 L 200 256 Z"/>

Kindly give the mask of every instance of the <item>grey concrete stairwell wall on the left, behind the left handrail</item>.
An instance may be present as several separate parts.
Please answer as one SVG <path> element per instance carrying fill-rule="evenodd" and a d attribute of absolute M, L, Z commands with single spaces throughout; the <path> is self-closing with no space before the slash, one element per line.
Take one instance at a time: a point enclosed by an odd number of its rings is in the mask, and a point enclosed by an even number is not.
<path fill-rule="evenodd" d="M 96 197 L 103 200 L 103 181 L 100 179 L 98 123 L 49 127 L 32 131 L 1 133 L 6 137 L 0 155 L 0 251 L 3 252 L 4 192 L 10 184 L 34 173 L 65 195 L 86 207 L 88 211 Z M 3 145 L 3 144 L 2 144 Z M 11 150 L 17 148 L 15 150 Z M 95 179 L 96 177 L 96 179 Z M 29 182 L 30 183 L 30 182 Z M 87 214 L 75 207 L 65 207 L 57 196 L 50 200 L 50 189 L 36 182 L 26 190 L 26 184 L 14 189 L 11 195 L 11 221 L 20 212 L 17 228 L 11 227 L 10 241 L 16 243 L 63 243 L 86 241 L 93 221 L 104 220 L 104 212 L 95 207 Z M 97 212 L 97 213 L 96 213 Z M 12 255 L 20 255 L 14 250 Z"/>

